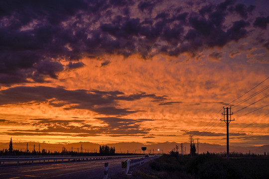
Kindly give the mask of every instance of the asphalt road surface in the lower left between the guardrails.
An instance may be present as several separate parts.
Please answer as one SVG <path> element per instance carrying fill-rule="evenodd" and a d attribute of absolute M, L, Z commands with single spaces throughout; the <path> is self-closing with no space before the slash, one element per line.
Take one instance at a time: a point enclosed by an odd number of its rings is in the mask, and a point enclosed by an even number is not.
<path fill-rule="evenodd" d="M 121 163 L 126 159 L 0 167 L 0 179 L 103 179 L 105 162 L 110 177 L 125 170 Z"/>

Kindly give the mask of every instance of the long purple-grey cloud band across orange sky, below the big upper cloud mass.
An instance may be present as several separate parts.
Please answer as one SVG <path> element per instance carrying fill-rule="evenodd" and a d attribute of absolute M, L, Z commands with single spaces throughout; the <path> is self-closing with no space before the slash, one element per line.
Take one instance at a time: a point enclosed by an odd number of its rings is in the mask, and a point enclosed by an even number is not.
<path fill-rule="evenodd" d="M 165 99 L 155 94 L 138 93 L 126 95 L 120 91 L 67 90 L 52 87 L 14 87 L 0 90 L 0 105 L 30 102 L 47 102 L 54 107 L 70 109 L 88 109 L 98 114 L 127 115 L 135 113 L 129 108 L 119 108 L 117 101 L 134 101 L 141 98 Z M 118 106 L 118 107 L 117 107 Z M 143 110 L 139 110 L 143 111 Z M 142 120 L 142 119 L 141 119 Z"/>

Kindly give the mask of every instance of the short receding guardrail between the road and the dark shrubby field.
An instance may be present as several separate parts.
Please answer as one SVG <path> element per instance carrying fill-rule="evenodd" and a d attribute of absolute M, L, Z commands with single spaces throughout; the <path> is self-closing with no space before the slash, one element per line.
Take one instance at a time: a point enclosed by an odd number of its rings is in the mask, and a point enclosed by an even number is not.
<path fill-rule="evenodd" d="M 135 167 L 138 167 L 139 165 L 142 165 L 144 163 L 147 163 L 153 159 L 158 158 L 158 156 L 154 157 L 146 157 L 146 158 L 140 158 L 140 159 L 133 159 L 133 160 L 125 160 L 122 162 L 122 168 L 125 169 L 125 174 L 128 175 L 130 169 L 133 169 Z"/>

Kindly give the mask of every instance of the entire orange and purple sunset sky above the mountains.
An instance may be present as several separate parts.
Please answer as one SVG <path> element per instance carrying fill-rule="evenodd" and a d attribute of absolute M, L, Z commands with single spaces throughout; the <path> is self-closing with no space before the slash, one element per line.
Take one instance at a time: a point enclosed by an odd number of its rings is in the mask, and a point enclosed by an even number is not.
<path fill-rule="evenodd" d="M 232 106 L 231 145 L 269 144 L 268 9 L 268 0 L 0 1 L 0 142 L 194 135 L 223 145 L 221 113 Z"/>

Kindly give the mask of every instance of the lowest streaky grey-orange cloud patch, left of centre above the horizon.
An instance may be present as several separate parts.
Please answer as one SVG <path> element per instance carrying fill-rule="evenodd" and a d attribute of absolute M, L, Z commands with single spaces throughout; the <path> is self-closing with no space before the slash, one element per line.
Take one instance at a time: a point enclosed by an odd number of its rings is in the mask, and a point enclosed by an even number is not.
<path fill-rule="evenodd" d="M 59 120 L 52 118 L 31 119 L 32 126 L 36 129 L 30 130 L 9 130 L 9 135 L 72 135 L 72 136 L 131 136 L 147 134 L 149 128 L 141 128 L 140 123 L 151 119 L 128 119 L 118 117 L 99 117 L 105 126 L 94 126 L 86 124 L 85 120 Z M 72 123 L 76 123 L 73 125 Z M 59 134 L 58 134 L 59 133 Z"/>

